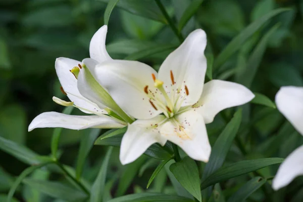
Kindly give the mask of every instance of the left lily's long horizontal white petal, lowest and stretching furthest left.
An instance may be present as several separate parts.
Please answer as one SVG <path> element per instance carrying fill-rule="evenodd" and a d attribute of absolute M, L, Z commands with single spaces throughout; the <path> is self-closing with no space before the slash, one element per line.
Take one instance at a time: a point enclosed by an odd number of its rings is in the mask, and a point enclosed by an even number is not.
<path fill-rule="evenodd" d="M 66 128 L 81 130 L 87 128 L 108 129 L 122 127 L 125 127 L 125 125 L 107 115 L 78 116 L 51 111 L 36 116 L 30 123 L 28 131 L 32 131 L 35 128 Z"/>

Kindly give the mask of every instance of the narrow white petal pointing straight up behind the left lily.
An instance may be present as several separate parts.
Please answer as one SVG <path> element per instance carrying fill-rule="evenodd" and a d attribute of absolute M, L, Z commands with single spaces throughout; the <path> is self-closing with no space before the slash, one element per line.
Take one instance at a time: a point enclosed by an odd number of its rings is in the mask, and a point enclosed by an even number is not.
<path fill-rule="evenodd" d="M 106 34 L 107 25 L 103 25 L 94 33 L 89 44 L 90 58 L 100 63 L 106 60 L 112 60 L 105 48 Z"/>

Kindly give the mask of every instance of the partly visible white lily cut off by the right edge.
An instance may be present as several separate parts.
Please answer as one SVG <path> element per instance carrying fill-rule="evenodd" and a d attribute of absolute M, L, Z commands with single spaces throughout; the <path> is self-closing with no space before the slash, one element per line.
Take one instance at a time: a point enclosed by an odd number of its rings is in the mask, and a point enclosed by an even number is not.
<path fill-rule="evenodd" d="M 282 87 L 276 95 L 279 111 L 303 135 L 303 88 Z M 303 175 L 303 145 L 287 156 L 273 179 L 273 189 L 288 185 L 295 177 Z"/>

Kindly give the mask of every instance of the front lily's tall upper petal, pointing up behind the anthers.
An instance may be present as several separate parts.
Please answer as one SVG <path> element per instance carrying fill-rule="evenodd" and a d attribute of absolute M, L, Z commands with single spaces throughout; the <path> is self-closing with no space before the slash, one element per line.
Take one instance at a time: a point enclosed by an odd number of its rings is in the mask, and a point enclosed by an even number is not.
<path fill-rule="evenodd" d="M 185 85 L 189 95 L 182 106 L 193 105 L 198 101 L 203 90 L 207 61 L 204 55 L 207 38 L 202 29 L 191 32 L 185 41 L 172 52 L 159 69 L 159 79 L 165 85 L 171 85 L 171 71 L 176 82 L 175 88 Z"/>

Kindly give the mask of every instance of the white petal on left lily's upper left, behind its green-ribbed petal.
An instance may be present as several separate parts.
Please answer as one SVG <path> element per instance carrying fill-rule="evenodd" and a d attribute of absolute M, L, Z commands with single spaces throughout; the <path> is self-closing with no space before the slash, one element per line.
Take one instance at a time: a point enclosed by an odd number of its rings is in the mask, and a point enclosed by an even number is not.
<path fill-rule="evenodd" d="M 73 67 L 78 66 L 78 64 L 81 64 L 81 62 L 69 58 L 57 58 L 55 67 L 56 67 L 58 78 L 60 80 L 60 83 L 64 91 L 67 93 L 67 97 L 72 102 L 74 102 L 76 106 L 83 108 L 80 109 L 81 111 L 85 113 L 91 113 L 91 112 L 97 113 L 98 111 L 100 111 L 99 107 L 96 104 L 84 98 L 79 93 L 77 88 L 77 79 L 70 72 L 70 70 Z M 84 109 L 87 109 L 89 111 Z"/>

